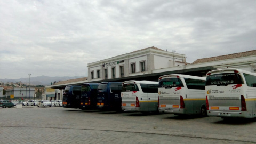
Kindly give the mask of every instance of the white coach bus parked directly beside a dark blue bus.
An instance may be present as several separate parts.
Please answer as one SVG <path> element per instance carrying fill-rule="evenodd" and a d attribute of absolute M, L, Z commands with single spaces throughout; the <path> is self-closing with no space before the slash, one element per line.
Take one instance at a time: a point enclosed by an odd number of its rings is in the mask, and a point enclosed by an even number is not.
<path fill-rule="evenodd" d="M 158 110 L 158 82 L 125 81 L 122 83 L 122 110 L 154 112 Z"/>

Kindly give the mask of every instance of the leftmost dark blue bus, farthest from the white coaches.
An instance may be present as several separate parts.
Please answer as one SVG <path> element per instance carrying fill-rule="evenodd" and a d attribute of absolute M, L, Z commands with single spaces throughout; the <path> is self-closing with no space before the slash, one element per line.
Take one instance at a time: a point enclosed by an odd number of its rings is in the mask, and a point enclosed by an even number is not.
<path fill-rule="evenodd" d="M 66 86 L 63 92 L 63 107 L 79 108 L 81 97 L 81 86 Z"/>

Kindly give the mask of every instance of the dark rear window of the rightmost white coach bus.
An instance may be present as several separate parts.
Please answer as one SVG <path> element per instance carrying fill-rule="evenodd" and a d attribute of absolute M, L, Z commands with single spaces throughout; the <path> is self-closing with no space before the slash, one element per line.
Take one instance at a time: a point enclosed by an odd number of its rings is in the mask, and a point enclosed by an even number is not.
<path fill-rule="evenodd" d="M 244 84 L 244 81 L 236 73 L 215 74 L 206 78 L 206 85 L 227 86 L 229 84 Z"/>

